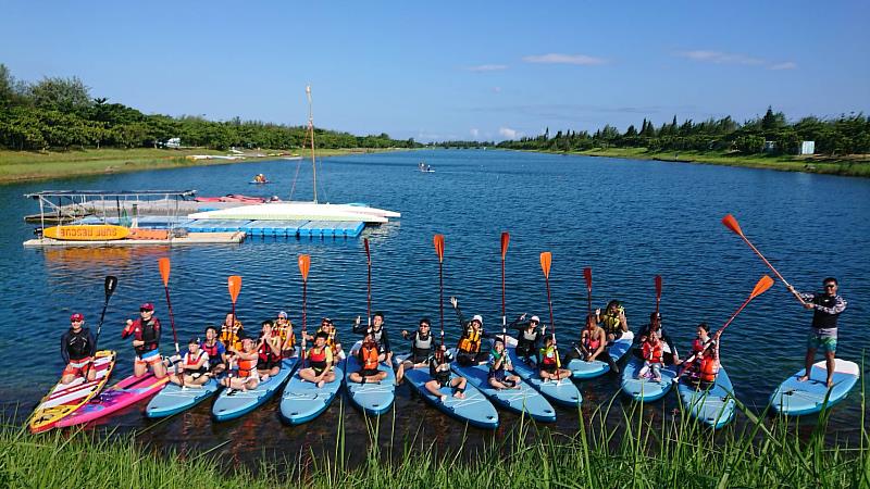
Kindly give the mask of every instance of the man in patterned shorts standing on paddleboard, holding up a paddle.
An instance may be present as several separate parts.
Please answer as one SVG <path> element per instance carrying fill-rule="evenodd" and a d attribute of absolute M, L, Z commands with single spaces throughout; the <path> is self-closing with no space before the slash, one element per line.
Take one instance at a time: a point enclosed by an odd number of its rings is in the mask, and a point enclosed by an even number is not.
<path fill-rule="evenodd" d="M 828 387 L 834 387 L 834 359 L 836 356 L 836 322 L 846 310 L 846 301 L 838 293 L 840 284 L 836 278 L 828 277 L 822 280 L 821 292 L 798 292 L 790 286 L 788 291 L 799 300 L 804 308 L 812 311 L 812 325 L 807 336 L 807 355 L 805 358 L 806 371 L 798 378 L 804 383 L 809 380 L 812 363 L 816 361 L 816 350 L 824 352 L 828 369 Z"/>

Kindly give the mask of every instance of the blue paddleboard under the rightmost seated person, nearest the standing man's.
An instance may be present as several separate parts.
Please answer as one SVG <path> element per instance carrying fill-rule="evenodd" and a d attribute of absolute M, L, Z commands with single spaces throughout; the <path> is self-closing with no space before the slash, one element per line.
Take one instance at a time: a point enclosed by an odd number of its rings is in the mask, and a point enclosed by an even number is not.
<path fill-rule="evenodd" d="M 664 377 L 663 374 L 662 377 Z M 686 381 L 685 377 L 682 377 L 676 386 L 676 391 L 688 414 L 714 429 L 719 429 L 734 419 L 736 406 L 734 386 L 724 367 L 719 368 L 716 381 L 709 388 L 694 386 Z"/>

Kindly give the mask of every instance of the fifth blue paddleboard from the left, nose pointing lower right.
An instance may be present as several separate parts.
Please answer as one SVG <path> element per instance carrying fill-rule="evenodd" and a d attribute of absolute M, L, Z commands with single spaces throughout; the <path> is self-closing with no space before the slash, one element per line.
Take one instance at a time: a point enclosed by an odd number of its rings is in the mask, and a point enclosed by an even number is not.
<path fill-rule="evenodd" d="M 398 366 L 407 358 L 408 355 L 396 358 L 396 365 Z M 450 374 L 451 380 L 458 377 L 456 373 Z M 442 387 L 442 393 L 447 396 L 447 400 L 442 402 L 440 398 L 433 396 L 432 392 L 426 389 L 426 383 L 432 380 L 432 377 L 428 375 L 427 366 L 405 371 L 405 380 L 417 390 L 421 398 L 448 416 L 455 417 L 461 422 L 467 422 L 471 426 L 477 428 L 495 429 L 498 427 L 498 411 L 496 411 L 493 403 L 489 402 L 476 387 L 472 386 L 470 381 L 465 383 L 464 399 L 455 398 L 452 387 Z"/>

